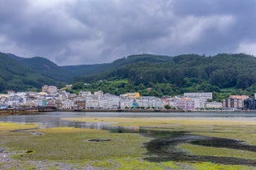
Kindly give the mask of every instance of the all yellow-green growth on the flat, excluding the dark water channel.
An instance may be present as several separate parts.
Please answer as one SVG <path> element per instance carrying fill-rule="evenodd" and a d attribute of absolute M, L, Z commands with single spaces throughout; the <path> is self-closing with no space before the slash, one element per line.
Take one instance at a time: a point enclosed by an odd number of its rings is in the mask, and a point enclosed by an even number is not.
<path fill-rule="evenodd" d="M 256 145 L 256 122 L 236 121 L 235 119 L 210 118 L 122 118 L 84 117 L 68 119 L 81 122 L 109 122 L 112 126 L 134 126 L 156 131 L 187 131 L 195 135 L 216 136 L 244 140 Z M 152 128 L 150 126 L 159 127 Z M 159 162 L 145 161 L 144 143 L 149 138 L 132 133 L 111 133 L 103 130 L 56 127 L 36 130 L 45 135 L 33 136 L 18 129 L 34 128 L 33 124 L 0 123 L 0 147 L 16 152 L 12 156 L 18 160 L 19 168 L 36 169 L 33 161 L 46 161 L 49 169 L 59 169 L 57 163 L 71 163 L 73 167 L 92 166 L 103 169 L 256 169 L 248 166 L 222 165 L 207 162 Z M 12 132 L 11 132 L 12 131 Z M 110 139 L 104 142 L 89 142 L 88 139 Z M 199 145 L 184 144 L 180 148 L 196 155 L 232 156 L 256 159 L 254 152 L 236 149 L 220 149 Z M 26 153 L 26 151 L 32 151 Z M 32 161 L 32 162 L 31 162 Z M 33 164 L 34 163 L 34 164 Z M 3 164 L 0 162 L 0 168 Z M 16 169 L 10 165 L 9 169 Z"/>

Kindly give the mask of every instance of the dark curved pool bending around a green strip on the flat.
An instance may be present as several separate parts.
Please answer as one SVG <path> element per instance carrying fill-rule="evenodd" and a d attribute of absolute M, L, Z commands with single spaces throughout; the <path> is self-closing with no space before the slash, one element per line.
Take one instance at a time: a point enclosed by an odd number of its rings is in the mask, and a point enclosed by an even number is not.
<path fill-rule="evenodd" d="M 197 161 L 197 162 L 212 162 L 221 164 L 233 164 L 233 165 L 249 165 L 256 167 L 256 163 L 252 159 L 239 159 L 232 157 L 215 157 L 215 156 L 198 156 L 188 154 L 182 149 L 178 148 L 178 145 L 192 144 L 202 145 L 210 147 L 221 147 L 227 149 L 241 149 L 251 152 L 256 152 L 255 145 L 246 145 L 244 141 L 216 138 L 208 136 L 194 136 L 187 134 L 184 131 L 169 132 L 169 138 L 151 140 L 145 144 L 148 150 L 149 157 L 145 158 L 152 162 L 162 161 Z"/>

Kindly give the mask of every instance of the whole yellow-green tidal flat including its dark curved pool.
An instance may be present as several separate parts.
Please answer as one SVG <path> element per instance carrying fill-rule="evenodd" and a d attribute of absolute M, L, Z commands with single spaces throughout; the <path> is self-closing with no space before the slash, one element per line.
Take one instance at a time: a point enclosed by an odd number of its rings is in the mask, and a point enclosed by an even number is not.
<path fill-rule="evenodd" d="M 36 124 L 0 123 L 0 169 L 256 169 L 254 121 L 223 117 L 64 119 L 113 128 L 40 129 Z"/>

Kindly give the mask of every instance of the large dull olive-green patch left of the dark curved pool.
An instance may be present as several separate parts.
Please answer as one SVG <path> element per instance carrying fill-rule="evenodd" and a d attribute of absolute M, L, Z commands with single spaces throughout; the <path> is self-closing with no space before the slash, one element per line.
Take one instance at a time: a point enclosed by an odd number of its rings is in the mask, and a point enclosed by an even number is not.
<path fill-rule="evenodd" d="M 83 163 L 84 160 L 104 160 L 127 157 L 142 157 L 148 141 L 137 134 L 118 134 L 92 129 L 59 127 L 42 129 L 45 136 L 27 136 L 20 140 L 10 139 L 5 145 L 23 154 L 14 158 L 26 160 L 55 160 Z M 110 139 L 106 142 L 89 142 L 89 139 Z M 27 150 L 32 150 L 26 154 Z M 21 156 L 22 155 L 22 156 Z"/>

